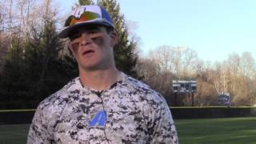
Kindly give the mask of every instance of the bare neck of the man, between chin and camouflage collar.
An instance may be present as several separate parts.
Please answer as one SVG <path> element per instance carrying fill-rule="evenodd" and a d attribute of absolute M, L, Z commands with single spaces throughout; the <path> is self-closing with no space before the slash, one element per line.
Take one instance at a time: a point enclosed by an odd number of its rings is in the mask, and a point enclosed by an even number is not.
<path fill-rule="evenodd" d="M 94 90 L 106 90 L 118 81 L 119 71 L 114 67 L 109 70 L 79 70 L 79 78 L 84 86 Z"/>

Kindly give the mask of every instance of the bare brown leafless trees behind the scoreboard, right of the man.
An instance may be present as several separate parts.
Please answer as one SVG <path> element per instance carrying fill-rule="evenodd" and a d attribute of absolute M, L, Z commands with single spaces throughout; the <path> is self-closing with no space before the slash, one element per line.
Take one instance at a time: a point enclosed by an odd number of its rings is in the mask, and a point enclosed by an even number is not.
<path fill-rule="evenodd" d="M 231 106 L 256 103 L 256 63 L 250 52 L 232 53 L 222 62 L 204 62 L 196 51 L 186 47 L 159 46 L 135 67 L 138 76 L 160 91 L 171 106 L 191 106 L 191 94 L 175 95 L 173 80 L 194 80 L 195 106 L 218 105 L 218 94 L 229 93 Z"/>

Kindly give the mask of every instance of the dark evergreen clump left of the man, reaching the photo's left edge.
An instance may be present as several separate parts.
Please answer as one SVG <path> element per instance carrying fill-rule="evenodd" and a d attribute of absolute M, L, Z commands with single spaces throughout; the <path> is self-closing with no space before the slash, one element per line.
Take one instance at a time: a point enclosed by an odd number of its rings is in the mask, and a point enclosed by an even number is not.
<path fill-rule="evenodd" d="M 73 65 L 58 56 L 63 48 L 54 22 L 46 21 L 33 35 L 10 49 L 0 76 L 0 109 L 35 108 L 74 76 Z"/>

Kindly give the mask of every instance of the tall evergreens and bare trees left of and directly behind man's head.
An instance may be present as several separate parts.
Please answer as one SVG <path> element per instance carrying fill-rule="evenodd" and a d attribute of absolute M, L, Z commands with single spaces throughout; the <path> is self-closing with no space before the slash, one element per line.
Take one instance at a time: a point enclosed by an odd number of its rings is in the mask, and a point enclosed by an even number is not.
<path fill-rule="evenodd" d="M 30 109 L 78 76 L 68 39 L 58 38 L 66 15 L 54 0 L 2 0 L 0 7 L 0 109 Z M 79 1 L 76 5 L 93 4 Z M 114 47 L 119 70 L 136 77 L 137 43 L 115 0 L 98 5 L 110 11 L 118 32 Z M 75 6 L 73 6 L 75 7 Z M 71 8 L 71 6 L 70 6 Z"/>

